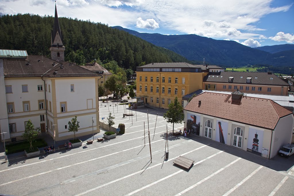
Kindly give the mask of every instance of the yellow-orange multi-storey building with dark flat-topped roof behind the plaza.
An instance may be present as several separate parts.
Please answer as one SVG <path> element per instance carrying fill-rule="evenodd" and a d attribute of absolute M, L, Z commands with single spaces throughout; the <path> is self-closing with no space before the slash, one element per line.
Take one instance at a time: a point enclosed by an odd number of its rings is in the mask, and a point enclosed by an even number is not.
<path fill-rule="evenodd" d="M 168 108 L 168 104 L 202 89 L 208 68 L 189 63 L 150 63 L 137 67 L 137 97 L 144 97 L 144 104 L 157 108 Z"/>

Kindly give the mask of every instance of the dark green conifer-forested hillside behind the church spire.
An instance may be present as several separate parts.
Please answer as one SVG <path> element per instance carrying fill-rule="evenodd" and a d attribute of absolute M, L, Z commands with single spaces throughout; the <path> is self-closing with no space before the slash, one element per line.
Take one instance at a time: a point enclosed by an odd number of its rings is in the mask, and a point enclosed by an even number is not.
<path fill-rule="evenodd" d="M 50 56 L 53 22 L 52 16 L 2 15 L 0 48 Z M 120 67 L 133 70 L 144 62 L 188 62 L 173 51 L 105 24 L 71 18 L 59 18 L 59 24 L 66 47 L 66 60 L 80 65 L 93 61 L 94 58 L 103 63 L 114 60 Z"/>

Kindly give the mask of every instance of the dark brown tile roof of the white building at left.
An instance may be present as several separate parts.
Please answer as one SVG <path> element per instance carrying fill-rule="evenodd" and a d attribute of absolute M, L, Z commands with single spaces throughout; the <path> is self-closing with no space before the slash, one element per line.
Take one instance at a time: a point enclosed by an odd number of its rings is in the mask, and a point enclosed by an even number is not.
<path fill-rule="evenodd" d="M 60 64 L 41 55 L 31 55 L 27 59 L 3 59 L 4 77 L 41 77 L 43 75 L 47 77 L 100 76 L 98 73 L 77 65 L 69 66 L 69 62 L 62 62 L 64 69 L 60 69 Z M 53 74 L 56 69 L 58 74 Z"/>

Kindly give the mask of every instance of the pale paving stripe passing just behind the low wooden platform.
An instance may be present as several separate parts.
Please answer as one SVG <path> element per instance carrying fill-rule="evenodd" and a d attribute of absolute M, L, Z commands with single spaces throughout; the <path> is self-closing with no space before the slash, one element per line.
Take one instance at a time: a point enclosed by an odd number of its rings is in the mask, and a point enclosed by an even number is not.
<path fill-rule="evenodd" d="M 182 154 L 182 155 L 179 155 L 179 156 L 183 156 L 183 155 L 186 155 L 186 154 L 188 154 L 188 153 L 192 153 L 192 152 L 194 152 L 194 151 L 196 151 L 196 150 L 199 150 L 199 149 L 201 149 L 201 148 L 203 148 L 203 147 L 205 147 L 205 146 L 207 146 L 207 145 L 200 146 L 200 147 L 198 147 L 198 148 L 196 148 L 196 149 L 194 149 L 194 150 L 191 150 L 191 151 L 186 152 L 186 153 L 184 153 L 184 154 Z M 220 152 L 223 152 L 223 151 L 220 151 Z M 218 153 L 220 153 L 220 152 L 218 152 Z M 218 153 L 216 153 L 216 154 L 218 154 Z M 171 160 L 174 160 L 174 159 L 178 158 L 179 156 L 176 156 L 176 157 L 174 157 L 174 158 L 171 158 L 171 159 L 167 160 L 166 162 L 171 161 Z M 121 177 L 121 178 L 118 178 L 118 179 L 116 179 L 116 180 L 113 180 L 113 181 L 111 181 L 111 182 L 108 182 L 108 183 L 106 183 L 106 184 L 104 184 L 104 185 L 100 185 L 100 186 L 98 186 L 98 187 L 92 188 L 92 189 L 87 190 L 87 191 L 85 191 L 85 192 L 81 192 L 80 194 L 75 195 L 75 196 L 84 195 L 84 194 L 86 194 L 86 193 L 88 193 L 88 192 L 91 192 L 91 191 L 97 190 L 97 189 L 99 189 L 99 188 L 101 188 L 101 187 L 104 187 L 104 186 L 106 186 L 106 185 L 110 185 L 110 184 L 112 184 L 112 183 L 114 183 L 114 182 L 117 182 L 117 181 L 119 181 L 119 180 L 126 179 L 126 178 L 128 178 L 128 177 L 130 177 L 130 176 L 133 176 L 133 175 L 136 175 L 136 174 L 138 174 L 138 173 L 141 173 L 141 172 L 143 172 L 144 170 L 150 170 L 150 169 L 152 169 L 153 167 L 156 167 L 156 166 L 159 166 L 159 165 L 162 165 L 162 163 L 158 163 L 158 164 L 153 165 L 153 166 L 151 166 L 151 167 L 147 167 L 146 169 L 142 169 L 142 170 L 140 170 L 140 171 L 134 172 L 134 173 L 132 173 L 132 174 L 129 174 L 129 175 L 126 175 L 126 176 L 124 176 L 124 177 Z"/>

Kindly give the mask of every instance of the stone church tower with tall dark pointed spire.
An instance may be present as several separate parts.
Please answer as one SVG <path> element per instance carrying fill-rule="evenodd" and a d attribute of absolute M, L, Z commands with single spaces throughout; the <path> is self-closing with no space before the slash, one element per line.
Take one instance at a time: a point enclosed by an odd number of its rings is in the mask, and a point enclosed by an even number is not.
<path fill-rule="evenodd" d="M 58 62 L 64 61 L 64 51 L 65 47 L 62 43 L 62 36 L 57 16 L 57 9 L 55 4 L 55 18 L 54 18 L 54 25 L 53 30 L 51 31 L 51 58 Z"/>

